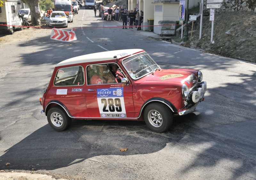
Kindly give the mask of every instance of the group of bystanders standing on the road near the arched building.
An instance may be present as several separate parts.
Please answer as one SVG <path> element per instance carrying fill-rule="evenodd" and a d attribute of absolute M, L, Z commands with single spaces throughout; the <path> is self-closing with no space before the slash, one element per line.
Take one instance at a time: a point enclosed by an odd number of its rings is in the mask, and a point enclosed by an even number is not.
<path fill-rule="evenodd" d="M 104 6 L 100 5 L 100 10 L 99 10 L 99 17 L 101 15 L 101 19 L 103 20 L 104 18 Z M 116 21 L 123 21 L 123 29 L 127 29 L 127 24 L 129 25 L 129 29 L 133 29 L 133 26 L 137 28 L 137 30 L 141 30 L 141 24 L 143 22 L 143 11 L 137 11 L 136 8 L 131 11 L 127 11 L 124 9 L 124 7 L 115 7 L 114 9 L 109 8 L 108 9 L 108 18 L 109 21 L 111 21 L 112 13 L 115 13 L 115 20 Z M 95 16 L 96 16 L 96 6 L 94 10 Z"/>

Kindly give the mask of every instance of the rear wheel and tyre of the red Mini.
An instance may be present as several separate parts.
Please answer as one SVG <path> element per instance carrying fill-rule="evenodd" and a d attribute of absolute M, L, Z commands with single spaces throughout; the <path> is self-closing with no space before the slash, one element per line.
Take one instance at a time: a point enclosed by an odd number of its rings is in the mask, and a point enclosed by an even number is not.
<path fill-rule="evenodd" d="M 71 125 L 71 118 L 59 106 L 55 106 L 48 111 L 47 120 L 52 129 L 56 131 L 64 131 Z"/>

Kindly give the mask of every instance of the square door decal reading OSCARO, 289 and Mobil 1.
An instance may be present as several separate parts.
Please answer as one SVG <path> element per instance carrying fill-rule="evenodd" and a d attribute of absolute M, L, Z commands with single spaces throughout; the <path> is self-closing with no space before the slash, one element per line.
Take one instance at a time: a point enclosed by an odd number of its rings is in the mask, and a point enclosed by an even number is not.
<path fill-rule="evenodd" d="M 97 89 L 97 100 L 102 118 L 125 118 L 124 89 Z"/>

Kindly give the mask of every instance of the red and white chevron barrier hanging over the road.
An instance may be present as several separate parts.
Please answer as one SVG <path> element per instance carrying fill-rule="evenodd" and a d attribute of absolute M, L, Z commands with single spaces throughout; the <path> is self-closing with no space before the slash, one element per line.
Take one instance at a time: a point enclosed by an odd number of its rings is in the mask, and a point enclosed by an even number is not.
<path fill-rule="evenodd" d="M 75 31 L 76 31 L 75 28 L 73 28 L 71 31 L 52 28 L 51 39 L 63 41 L 63 42 L 77 40 Z"/>

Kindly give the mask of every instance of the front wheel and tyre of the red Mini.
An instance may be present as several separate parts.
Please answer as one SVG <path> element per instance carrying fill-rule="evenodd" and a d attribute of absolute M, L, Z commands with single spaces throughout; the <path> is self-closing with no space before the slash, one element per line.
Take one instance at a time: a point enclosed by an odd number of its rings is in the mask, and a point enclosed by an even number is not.
<path fill-rule="evenodd" d="M 152 103 L 145 108 L 144 119 L 149 129 L 163 133 L 172 125 L 172 112 L 164 104 Z"/>

